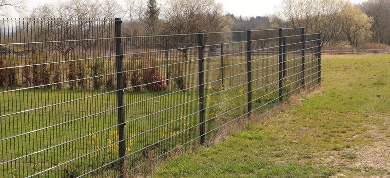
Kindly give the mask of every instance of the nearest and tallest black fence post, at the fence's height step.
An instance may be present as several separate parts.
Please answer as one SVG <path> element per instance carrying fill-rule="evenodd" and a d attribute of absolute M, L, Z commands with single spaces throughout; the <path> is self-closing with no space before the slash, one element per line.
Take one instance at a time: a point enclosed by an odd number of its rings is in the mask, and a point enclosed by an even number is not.
<path fill-rule="evenodd" d="M 119 169 L 123 177 L 123 162 L 125 156 L 125 124 L 124 124 L 124 99 L 123 99 L 123 54 L 122 54 L 122 35 L 121 19 L 115 18 L 115 54 L 117 67 L 117 101 L 118 101 L 118 153 Z"/>

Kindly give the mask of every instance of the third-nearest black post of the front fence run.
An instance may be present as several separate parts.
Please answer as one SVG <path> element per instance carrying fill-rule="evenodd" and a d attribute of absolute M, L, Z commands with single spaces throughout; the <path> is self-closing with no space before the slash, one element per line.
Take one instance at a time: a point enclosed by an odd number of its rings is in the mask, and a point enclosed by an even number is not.
<path fill-rule="evenodd" d="M 248 119 L 252 114 L 252 31 L 247 31 Z"/>

